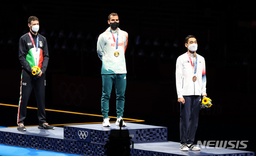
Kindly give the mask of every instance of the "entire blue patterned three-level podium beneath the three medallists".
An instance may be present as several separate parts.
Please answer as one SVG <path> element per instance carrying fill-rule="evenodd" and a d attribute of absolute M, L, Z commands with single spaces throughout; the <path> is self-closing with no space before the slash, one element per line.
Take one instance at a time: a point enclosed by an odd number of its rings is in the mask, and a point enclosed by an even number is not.
<path fill-rule="evenodd" d="M 134 147 L 130 147 L 131 156 L 254 156 L 254 152 L 202 146 L 201 151 L 184 152 L 179 150 L 179 142 L 167 140 L 167 127 L 126 124 L 121 129 L 127 130 L 130 140 L 134 142 Z M 1 128 L 0 144 L 82 156 L 106 156 L 104 146 L 108 142 L 110 131 L 120 129 L 115 123 L 110 125 L 111 127 L 102 127 L 102 124 L 67 125 L 63 128 L 55 127 L 55 130 L 26 127 L 27 131 L 18 131 L 16 127 Z"/>

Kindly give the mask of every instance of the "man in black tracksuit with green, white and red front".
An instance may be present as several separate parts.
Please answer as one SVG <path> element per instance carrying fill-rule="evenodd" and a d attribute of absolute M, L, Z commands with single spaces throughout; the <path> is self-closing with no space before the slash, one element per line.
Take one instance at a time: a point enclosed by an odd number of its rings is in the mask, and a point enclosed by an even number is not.
<path fill-rule="evenodd" d="M 18 131 L 26 131 L 24 120 L 31 91 L 34 88 L 37 102 L 38 129 L 54 129 L 46 123 L 45 113 L 45 71 L 48 65 L 48 47 L 46 38 L 37 33 L 39 20 L 35 16 L 28 18 L 30 31 L 20 37 L 19 60 L 22 64 L 20 101 L 18 107 Z M 32 68 L 38 68 L 33 71 Z"/>

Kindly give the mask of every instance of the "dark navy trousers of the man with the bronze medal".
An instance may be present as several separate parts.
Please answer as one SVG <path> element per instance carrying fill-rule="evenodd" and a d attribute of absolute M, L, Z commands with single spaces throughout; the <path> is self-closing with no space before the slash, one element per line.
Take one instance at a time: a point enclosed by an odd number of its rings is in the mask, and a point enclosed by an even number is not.
<path fill-rule="evenodd" d="M 183 96 L 185 103 L 180 103 L 180 143 L 192 144 L 198 126 L 201 96 Z"/>

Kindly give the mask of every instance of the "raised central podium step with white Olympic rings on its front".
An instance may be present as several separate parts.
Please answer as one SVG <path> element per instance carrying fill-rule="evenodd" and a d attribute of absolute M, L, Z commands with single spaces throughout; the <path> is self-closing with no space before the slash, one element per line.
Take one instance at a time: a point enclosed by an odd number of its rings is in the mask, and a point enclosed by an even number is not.
<path fill-rule="evenodd" d="M 122 130 L 128 130 L 134 143 L 167 141 L 167 127 L 126 123 Z M 102 124 L 70 125 L 64 126 L 64 139 L 77 140 L 90 143 L 106 144 L 110 131 L 120 129 L 115 123 L 110 127 L 102 127 Z"/>

